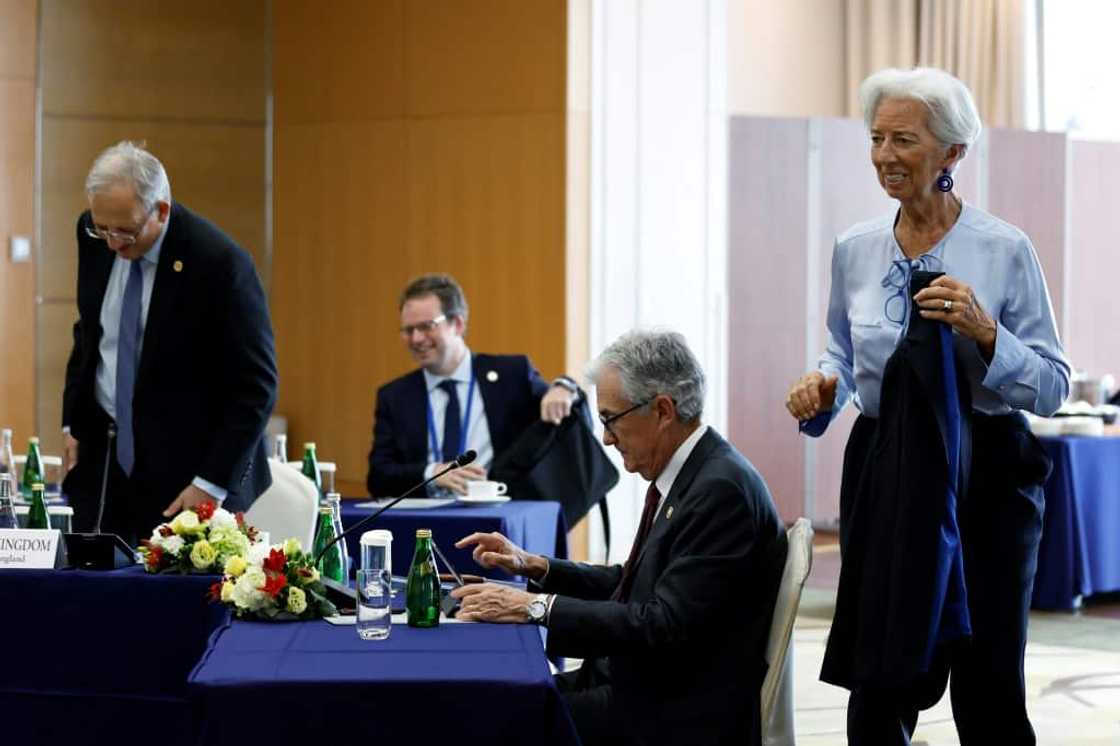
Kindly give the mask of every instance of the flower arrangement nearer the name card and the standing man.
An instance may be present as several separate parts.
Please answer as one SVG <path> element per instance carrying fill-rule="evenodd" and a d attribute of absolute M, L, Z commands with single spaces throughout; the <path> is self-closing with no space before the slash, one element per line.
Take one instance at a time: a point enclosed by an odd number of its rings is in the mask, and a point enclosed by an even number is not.
<path fill-rule="evenodd" d="M 206 501 L 189 507 L 140 542 L 148 572 L 216 575 L 234 558 L 246 559 L 258 541 L 258 531 L 233 514 Z"/>

